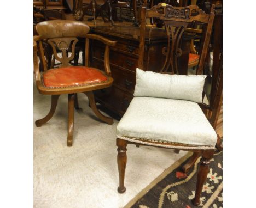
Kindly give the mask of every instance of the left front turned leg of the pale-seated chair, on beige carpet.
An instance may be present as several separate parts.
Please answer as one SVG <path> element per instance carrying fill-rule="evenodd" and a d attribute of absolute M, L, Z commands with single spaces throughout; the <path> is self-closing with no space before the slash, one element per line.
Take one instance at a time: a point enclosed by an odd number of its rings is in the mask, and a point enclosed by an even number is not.
<path fill-rule="evenodd" d="M 125 168 L 126 168 L 126 163 L 127 163 L 127 156 L 126 156 L 127 142 L 126 142 L 126 140 L 117 138 L 117 146 L 118 146 L 117 162 L 118 162 L 118 173 L 119 173 L 118 193 L 124 193 L 126 190 L 126 188 L 124 186 Z"/>

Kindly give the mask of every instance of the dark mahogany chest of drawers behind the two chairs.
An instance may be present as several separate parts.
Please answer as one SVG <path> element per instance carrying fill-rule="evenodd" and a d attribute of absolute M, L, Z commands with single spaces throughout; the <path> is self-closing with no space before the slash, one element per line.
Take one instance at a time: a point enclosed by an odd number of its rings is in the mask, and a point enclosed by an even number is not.
<path fill-rule="evenodd" d="M 138 66 L 139 52 L 139 27 L 97 26 L 92 28 L 91 33 L 117 41 L 117 45 L 110 48 L 109 57 L 110 69 L 114 78 L 113 86 L 95 91 L 95 97 L 97 102 L 100 102 L 105 108 L 122 116 L 133 98 L 135 89 L 135 71 Z M 167 45 L 166 40 L 167 35 L 163 29 L 150 28 L 147 30 L 144 70 L 155 72 L 161 70 L 161 65 L 165 60 L 162 55 L 162 48 Z M 182 55 L 185 62 L 188 62 L 190 40 L 187 42 L 188 44 L 185 44 L 187 47 L 183 49 Z M 96 40 L 91 42 L 90 65 L 104 70 L 104 45 Z"/>

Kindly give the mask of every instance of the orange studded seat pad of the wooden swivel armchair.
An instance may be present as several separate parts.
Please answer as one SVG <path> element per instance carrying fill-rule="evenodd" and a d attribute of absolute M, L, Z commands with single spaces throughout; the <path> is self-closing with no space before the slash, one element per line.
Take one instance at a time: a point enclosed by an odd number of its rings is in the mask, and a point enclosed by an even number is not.
<path fill-rule="evenodd" d="M 51 69 L 44 73 L 45 87 L 75 87 L 107 81 L 108 77 L 95 68 L 85 66 L 68 66 Z"/>

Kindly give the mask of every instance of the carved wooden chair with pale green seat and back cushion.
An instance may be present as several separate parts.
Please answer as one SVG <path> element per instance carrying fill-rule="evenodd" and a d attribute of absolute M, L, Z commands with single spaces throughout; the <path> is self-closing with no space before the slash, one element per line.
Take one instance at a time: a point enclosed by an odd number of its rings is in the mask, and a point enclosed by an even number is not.
<path fill-rule="evenodd" d="M 202 71 L 214 19 L 213 9 L 214 5 L 211 14 L 208 15 L 195 5 L 177 8 L 159 3 L 152 9 L 142 7 L 141 44 L 139 69 L 136 69 L 135 97 L 117 126 L 119 193 L 126 190 L 124 176 L 127 144 L 170 148 L 177 151 L 193 151 L 194 154 L 184 166 L 184 171 L 187 172 L 199 155 L 202 155 L 197 175 L 195 198 L 193 199 L 194 205 L 200 205 L 203 183 L 207 178 L 209 163 L 217 142 L 217 134 L 202 111 L 205 107 L 202 103 L 202 95 L 206 78 L 206 75 L 202 75 Z M 191 15 L 193 10 L 197 12 L 197 15 Z M 172 44 L 175 42 L 175 38 L 182 35 L 179 32 L 184 31 L 184 27 L 188 26 L 189 23 L 202 21 L 206 24 L 207 35 L 196 75 L 170 75 L 141 70 L 144 65 L 143 41 L 146 17 L 155 16 L 166 23 L 166 32 L 169 36 L 171 33 L 173 38 Z M 174 47 L 171 44 L 168 46 L 171 47 L 167 48 L 168 53 L 169 51 L 170 54 L 173 51 L 178 51 L 174 49 L 178 44 Z M 181 49 L 179 51 L 182 52 Z M 169 64 L 167 68 L 169 66 L 175 67 L 176 60 L 173 58 L 177 58 L 177 56 L 175 53 L 173 56 L 167 57 L 168 61 L 165 62 L 165 65 L 166 63 Z M 178 72 L 178 70 L 173 69 L 172 71 Z"/>

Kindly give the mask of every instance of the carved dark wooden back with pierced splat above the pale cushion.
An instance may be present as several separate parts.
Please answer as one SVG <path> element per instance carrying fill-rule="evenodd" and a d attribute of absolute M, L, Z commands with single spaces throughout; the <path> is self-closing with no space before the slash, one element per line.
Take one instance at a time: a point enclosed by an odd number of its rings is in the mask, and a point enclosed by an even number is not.
<path fill-rule="evenodd" d="M 144 5 L 146 4 L 144 3 Z M 173 7 L 166 3 L 159 3 L 150 9 L 147 9 L 144 5 L 141 9 L 139 68 L 143 69 L 143 54 L 147 29 L 146 19 L 158 17 L 158 19 L 164 23 L 164 29 L 167 34 L 167 47 L 162 48 L 162 54 L 166 58 L 162 65 L 161 72 L 171 71 L 172 74 L 179 74 L 178 58 L 182 55 L 181 40 L 185 29 L 195 21 L 205 25 L 202 52 L 199 60 L 199 67 L 196 71 L 197 75 L 202 74 L 208 50 L 208 43 L 212 32 L 214 5 L 212 5 L 210 14 L 204 13 L 196 5 Z"/>

